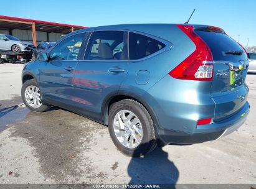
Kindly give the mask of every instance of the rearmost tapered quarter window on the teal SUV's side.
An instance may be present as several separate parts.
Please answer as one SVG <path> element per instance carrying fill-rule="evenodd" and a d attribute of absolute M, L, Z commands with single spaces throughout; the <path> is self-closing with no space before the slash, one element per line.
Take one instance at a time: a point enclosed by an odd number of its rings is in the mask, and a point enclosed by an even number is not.
<path fill-rule="evenodd" d="M 158 40 L 133 32 L 129 33 L 130 60 L 138 60 L 147 57 L 164 47 L 165 45 Z"/>

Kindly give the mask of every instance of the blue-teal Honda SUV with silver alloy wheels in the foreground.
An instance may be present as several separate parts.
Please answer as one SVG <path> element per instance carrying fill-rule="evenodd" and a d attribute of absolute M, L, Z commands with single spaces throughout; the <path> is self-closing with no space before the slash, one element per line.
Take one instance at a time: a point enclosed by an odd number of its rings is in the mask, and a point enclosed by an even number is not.
<path fill-rule="evenodd" d="M 108 125 L 127 155 L 219 139 L 249 113 L 249 60 L 218 27 L 94 27 L 66 35 L 38 58 L 22 71 L 27 108 L 60 106 Z"/>

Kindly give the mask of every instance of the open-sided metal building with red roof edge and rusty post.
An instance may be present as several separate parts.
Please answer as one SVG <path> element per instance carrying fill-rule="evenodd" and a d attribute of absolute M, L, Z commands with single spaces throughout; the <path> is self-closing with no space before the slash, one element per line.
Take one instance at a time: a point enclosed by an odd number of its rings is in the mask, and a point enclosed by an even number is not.
<path fill-rule="evenodd" d="M 0 34 L 14 35 L 34 45 L 41 41 L 55 42 L 63 35 L 83 28 L 87 27 L 0 15 Z"/>

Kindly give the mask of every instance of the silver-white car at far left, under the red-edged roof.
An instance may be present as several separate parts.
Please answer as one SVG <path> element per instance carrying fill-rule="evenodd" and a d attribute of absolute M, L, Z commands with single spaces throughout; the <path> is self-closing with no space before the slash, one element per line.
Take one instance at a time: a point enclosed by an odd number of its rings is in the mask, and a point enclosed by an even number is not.
<path fill-rule="evenodd" d="M 12 52 L 30 52 L 35 46 L 29 42 L 23 42 L 12 35 L 0 34 L 0 50 L 12 50 Z"/>

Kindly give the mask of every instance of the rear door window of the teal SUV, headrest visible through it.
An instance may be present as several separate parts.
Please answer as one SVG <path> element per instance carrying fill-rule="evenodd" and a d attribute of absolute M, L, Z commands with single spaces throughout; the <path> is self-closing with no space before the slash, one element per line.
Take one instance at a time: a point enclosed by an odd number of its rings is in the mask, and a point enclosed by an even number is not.
<path fill-rule="evenodd" d="M 93 32 L 87 47 L 85 60 L 127 60 L 124 32 Z"/>

